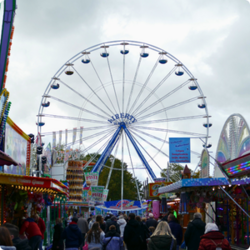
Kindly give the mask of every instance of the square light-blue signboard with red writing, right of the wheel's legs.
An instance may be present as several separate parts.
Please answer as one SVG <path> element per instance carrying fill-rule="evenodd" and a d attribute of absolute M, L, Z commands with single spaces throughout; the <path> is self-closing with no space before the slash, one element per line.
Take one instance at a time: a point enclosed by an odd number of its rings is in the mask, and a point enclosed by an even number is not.
<path fill-rule="evenodd" d="M 190 138 L 169 138 L 169 161 L 190 163 Z"/>

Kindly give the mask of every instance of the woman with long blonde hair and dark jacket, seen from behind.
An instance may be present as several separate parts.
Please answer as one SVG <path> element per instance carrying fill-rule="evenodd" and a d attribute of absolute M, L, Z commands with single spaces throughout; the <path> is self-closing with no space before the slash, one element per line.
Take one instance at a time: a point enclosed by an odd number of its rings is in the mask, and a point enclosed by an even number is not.
<path fill-rule="evenodd" d="M 176 250 L 176 239 L 166 221 L 161 221 L 150 236 L 148 250 Z"/>

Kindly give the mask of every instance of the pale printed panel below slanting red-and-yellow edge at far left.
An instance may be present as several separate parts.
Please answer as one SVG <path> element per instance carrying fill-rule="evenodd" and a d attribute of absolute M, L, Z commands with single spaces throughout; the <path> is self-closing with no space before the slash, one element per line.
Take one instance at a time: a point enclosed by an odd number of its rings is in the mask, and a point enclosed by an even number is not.
<path fill-rule="evenodd" d="M 5 166 L 5 173 L 26 175 L 27 143 L 26 139 L 6 123 L 4 151 L 18 163 L 18 166 Z"/>

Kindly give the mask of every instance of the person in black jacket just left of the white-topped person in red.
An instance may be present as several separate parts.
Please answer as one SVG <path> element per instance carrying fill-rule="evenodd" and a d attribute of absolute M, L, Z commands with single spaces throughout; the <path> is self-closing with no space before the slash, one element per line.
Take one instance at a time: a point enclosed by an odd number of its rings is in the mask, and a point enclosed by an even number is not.
<path fill-rule="evenodd" d="M 184 235 L 184 240 L 188 250 L 198 250 L 200 237 L 205 232 L 205 223 L 201 220 L 201 213 L 195 213 L 192 222 L 189 222 Z"/>

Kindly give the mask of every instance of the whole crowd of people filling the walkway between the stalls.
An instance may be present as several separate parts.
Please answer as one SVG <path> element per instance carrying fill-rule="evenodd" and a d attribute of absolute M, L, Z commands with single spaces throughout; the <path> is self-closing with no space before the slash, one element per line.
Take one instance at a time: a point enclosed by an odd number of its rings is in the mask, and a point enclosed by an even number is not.
<path fill-rule="evenodd" d="M 0 249 L 42 249 L 45 225 L 38 215 L 27 217 L 21 230 L 5 223 L 0 227 Z M 128 216 L 82 214 L 70 216 L 63 228 L 58 218 L 54 226 L 52 250 L 231 250 L 230 244 L 215 223 L 205 224 L 202 215 L 195 213 L 185 234 L 176 217 L 169 213 L 155 220 L 152 213 L 141 218 L 134 213 Z M 27 239 L 22 235 L 26 234 Z M 20 238 L 21 236 L 21 238 Z"/>

